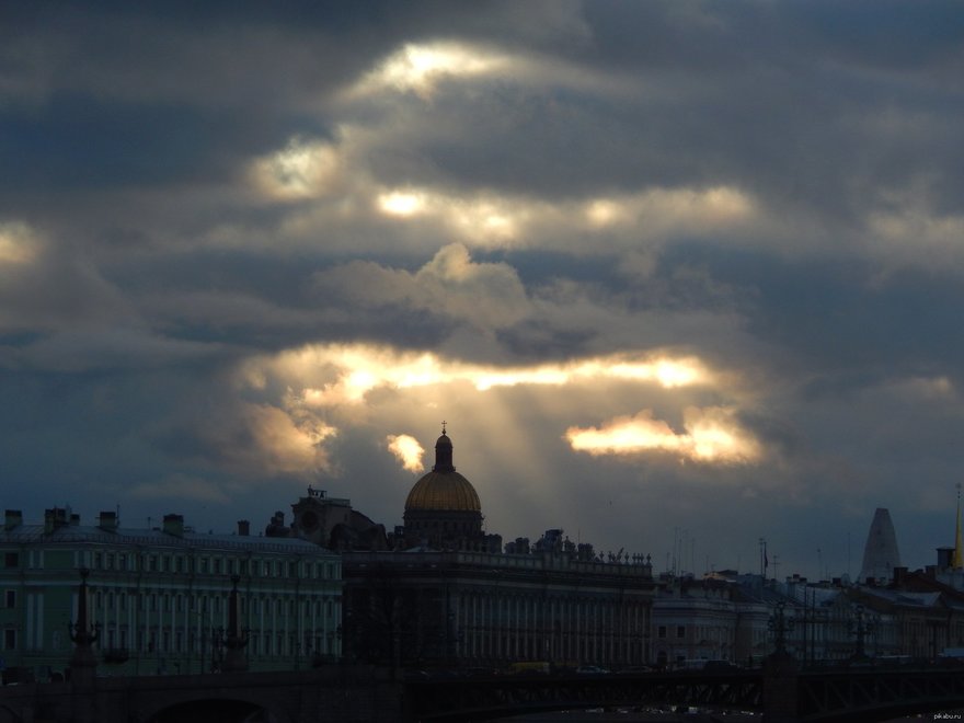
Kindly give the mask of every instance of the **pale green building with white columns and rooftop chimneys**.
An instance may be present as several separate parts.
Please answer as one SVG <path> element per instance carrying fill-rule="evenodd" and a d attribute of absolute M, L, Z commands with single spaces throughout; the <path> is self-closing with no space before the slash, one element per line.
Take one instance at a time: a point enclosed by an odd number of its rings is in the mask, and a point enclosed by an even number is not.
<path fill-rule="evenodd" d="M 252 537 L 243 520 L 233 535 L 203 535 L 181 515 L 130 529 L 113 512 L 85 526 L 69 508 L 26 525 L 7 510 L 0 555 L 0 665 L 9 678 L 67 668 L 83 569 L 97 675 L 219 669 L 236 585 L 248 669 L 341 656 L 341 558 L 303 539 Z"/>

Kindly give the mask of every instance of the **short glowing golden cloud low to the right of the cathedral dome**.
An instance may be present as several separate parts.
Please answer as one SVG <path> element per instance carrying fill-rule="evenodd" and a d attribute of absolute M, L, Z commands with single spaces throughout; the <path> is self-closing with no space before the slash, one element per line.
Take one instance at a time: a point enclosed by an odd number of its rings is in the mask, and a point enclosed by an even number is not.
<path fill-rule="evenodd" d="M 601 427 L 570 427 L 565 439 L 576 451 L 593 456 L 668 452 L 707 463 L 746 464 L 762 456 L 760 443 L 741 427 L 731 410 L 723 408 L 684 411 L 685 433 L 653 418 L 650 410 L 611 420 Z"/>

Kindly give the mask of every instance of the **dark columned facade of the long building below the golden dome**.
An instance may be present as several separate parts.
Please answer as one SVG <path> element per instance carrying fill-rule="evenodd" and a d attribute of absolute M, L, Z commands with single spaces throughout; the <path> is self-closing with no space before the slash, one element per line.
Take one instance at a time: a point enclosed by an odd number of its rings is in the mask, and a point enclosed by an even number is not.
<path fill-rule="evenodd" d="M 472 552 L 344 554 L 345 654 L 406 667 L 643 665 L 645 562 Z"/>

